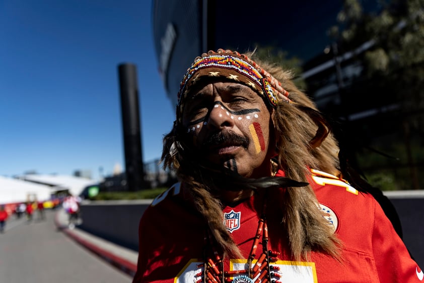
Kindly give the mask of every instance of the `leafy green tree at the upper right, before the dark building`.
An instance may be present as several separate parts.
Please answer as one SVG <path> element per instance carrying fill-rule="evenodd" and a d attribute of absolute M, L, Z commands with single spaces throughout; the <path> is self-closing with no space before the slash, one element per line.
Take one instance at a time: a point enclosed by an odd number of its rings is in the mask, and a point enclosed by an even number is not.
<path fill-rule="evenodd" d="M 370 100 L 374 96 L 382 105 L 390 101 L 395 109 L 398 119 L 393 129 L 402 133 L 400 159 L 409 168 L 411 180 L 404 188 L 418 189 L 417 164 L 424 161 L 424 0 L 378 3 L 380 11 L 364 12 L 360 1 L 345 0 L 338 25 L 329 34 L 342 51 L 368 43 L 357 54 L 367 78 L 364 86 L 378 89 Z"/>

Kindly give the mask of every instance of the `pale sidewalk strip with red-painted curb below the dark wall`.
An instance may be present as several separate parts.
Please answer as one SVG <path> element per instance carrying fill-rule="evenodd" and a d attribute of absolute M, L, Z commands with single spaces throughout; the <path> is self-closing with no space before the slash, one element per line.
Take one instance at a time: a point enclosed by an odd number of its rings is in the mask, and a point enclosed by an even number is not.
<path fill-rule="evenodd" d="M 134 276 L 137 269 L 137 252 L 87 233 L 78 229 L 78 226 L 74 229 L 69 229 L 67 225 L 68 215 L 62 208 L 56 212 L 54 221 L 57 228 L 63 231 L 74 241 L 84 246 L 94 254 L 100 256 L 108 263 L 127 273 L 129 276 Z"/>

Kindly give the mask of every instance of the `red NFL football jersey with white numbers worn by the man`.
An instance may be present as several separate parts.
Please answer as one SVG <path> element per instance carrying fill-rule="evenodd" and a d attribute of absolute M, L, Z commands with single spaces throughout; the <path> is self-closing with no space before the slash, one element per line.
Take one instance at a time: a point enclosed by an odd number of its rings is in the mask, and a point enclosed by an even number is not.
<path fill-rule="evenodd" d="M 308 261 L 294 261 L 287 238 L 281 233 L 281 217 L 273 211 L 278 207 L 278 196 L 272 196 L 267 200 L 266 210 L 268 245 L 270 250 L 280 253 L 272 263 L 280 268 L 280 278 L 271 279 L 299 283 L 422 282 L 423 271 L 411 259 L 371 195 L 359 193 L 335 176 L 311 172 L 310 183 L 320 203 L 317 209 L 324 212 L 343 243 L 342 260 L 312 252 Z M 139 255 L 133 283 L 205 282 L 201 271 L 206 223 L 185 195 L 184 187 L 178 183 L 158 196 L 144 212 L 139 225 Z M 244 269 L 258 227 L 262 199 L 262 193 L 258 192 L 236 206 L 223 209 L 226 227 L 244 256 L 244 259 L 227 259 L 225 270 Z"/>

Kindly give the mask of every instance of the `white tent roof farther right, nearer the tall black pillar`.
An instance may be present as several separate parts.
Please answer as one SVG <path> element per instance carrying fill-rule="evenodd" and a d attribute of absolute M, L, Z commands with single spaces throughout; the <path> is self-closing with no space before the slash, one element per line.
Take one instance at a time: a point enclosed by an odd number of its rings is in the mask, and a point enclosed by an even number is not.
<path fill-rule="evenodd" d="M 79 196 L 85 187 L 97 184 L 94 180 L 67 175 L 24 175 L 20 177 L 29 182 L 45 184 L 54 191 L 68 190 L 74 196 Z"/>

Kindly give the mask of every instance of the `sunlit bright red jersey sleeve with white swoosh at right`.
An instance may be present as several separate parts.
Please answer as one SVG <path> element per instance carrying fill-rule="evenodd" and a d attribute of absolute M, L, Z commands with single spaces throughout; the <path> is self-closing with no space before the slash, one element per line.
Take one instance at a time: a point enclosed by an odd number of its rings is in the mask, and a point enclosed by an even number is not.
<path fill-rule="evenodd" d="M 423 271 L 410 257 L 380 205 L 374 207 L 372 243 L 380 282 L 422 283 Z"/>

